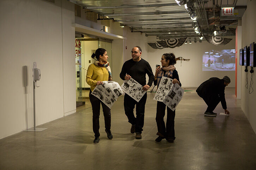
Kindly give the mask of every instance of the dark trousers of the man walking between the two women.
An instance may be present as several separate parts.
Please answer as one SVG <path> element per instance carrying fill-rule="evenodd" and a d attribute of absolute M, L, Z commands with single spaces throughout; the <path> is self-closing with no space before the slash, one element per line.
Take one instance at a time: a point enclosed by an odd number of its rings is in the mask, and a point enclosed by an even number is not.
<path fill-rule="evenodd" d="M 128 94 L 124 95 L 124 111 L 128 118 L 128 122 L 132 125 L 135 125 L 135 132 L 141 133 L 143 131 L 142 127 L 144 126 L 144 113 L 145 113 L 145 104 L 147 101 L 147 93 L 137 102 L 132 99 Z M 133 113 L 133 109 L 136 105 L 136 118 Z"/>

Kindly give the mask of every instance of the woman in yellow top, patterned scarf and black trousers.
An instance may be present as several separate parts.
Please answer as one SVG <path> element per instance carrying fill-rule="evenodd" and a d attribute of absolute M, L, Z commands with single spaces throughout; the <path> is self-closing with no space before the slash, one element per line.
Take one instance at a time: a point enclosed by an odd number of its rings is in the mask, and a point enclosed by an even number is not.
<path fill-rule="evenodd" d="M 86 74 L 86 82 L 91 86 L 89 99 L 91 106 L 93 108 L 93 132 L 95 139 L 93 143 L 99 143 L 100 141 L 100 103 L 103 109 L 103 115 L 105 119 L 105 131 L 107 133 L 108 139 L 112 139 L 112 133 L 110 130 L 111 127 L 111 110 L 107 105 L 105 105 L 100 99 L 91 94 L 96 85 L 103 84 L 102 81 L 112 81 L 111 69 L 108 63 L 108 55 L 105 49 L 99 48 L 91 55 L 91 58 L 94 58 L 95 61 L 93 64 L 90 64 Z"/>

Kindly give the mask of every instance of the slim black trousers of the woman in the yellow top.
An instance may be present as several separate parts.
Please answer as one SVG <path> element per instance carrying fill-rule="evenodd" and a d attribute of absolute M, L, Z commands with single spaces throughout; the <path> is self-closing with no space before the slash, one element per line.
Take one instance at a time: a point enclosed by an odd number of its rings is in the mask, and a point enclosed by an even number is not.
<path fill-rule="evenodd" d="M 111 127 L 111 109 L 107 107 L 100 99 L 95 97 L 94 95 L 91 94 L 91 90 L 89 93 L 89 99 L 91 102 L 91 107 L 93 108 L 93 132 L 95 137 L 100 136 L 100 103 L 103 109 L 103 115 L 104 115 L 104 120 L 105 120 L 105 129 L 107 131 L 110 131 Z"/>

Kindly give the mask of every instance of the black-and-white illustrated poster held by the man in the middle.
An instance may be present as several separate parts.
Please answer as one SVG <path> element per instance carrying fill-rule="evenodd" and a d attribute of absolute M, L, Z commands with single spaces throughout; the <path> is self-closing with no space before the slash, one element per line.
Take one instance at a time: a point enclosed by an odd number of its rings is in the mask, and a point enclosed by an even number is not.
<path fill-rule="evenodd" d="M 132 97 L 132 99 L 139 102 L 141 98 L 147 93 L 147 90 L 143 90 L 141 84 L 135 81 L 133 78 L 130 80 L 125 80 L 124 83 L 121 85 L 123 91 Z"/>

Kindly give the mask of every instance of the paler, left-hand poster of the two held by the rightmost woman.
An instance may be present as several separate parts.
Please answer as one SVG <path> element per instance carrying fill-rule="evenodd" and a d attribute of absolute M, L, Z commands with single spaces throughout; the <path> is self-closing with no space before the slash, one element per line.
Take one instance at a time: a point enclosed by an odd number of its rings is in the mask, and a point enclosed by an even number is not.
<path fill-rule="evenodd" d="M 154 100 L 162 102 L 167 96 L 167 94 L 169 93 L 169 91 L 171 90 L 171 88 L 172 88 L 172 79 L 168 77 L 162 77 L 159 87 L 156 90 L 156 95 L 154 97 Z"/>

